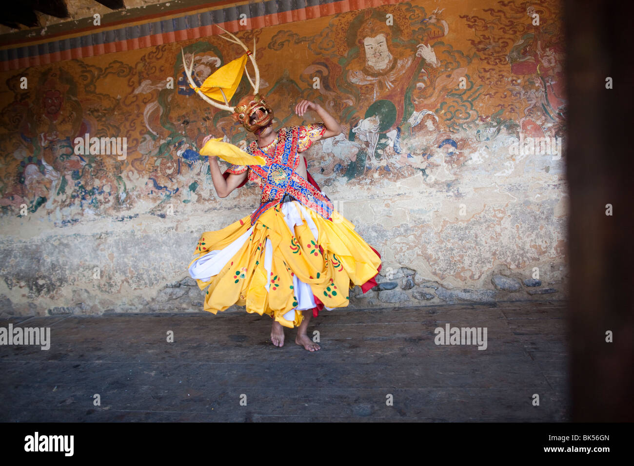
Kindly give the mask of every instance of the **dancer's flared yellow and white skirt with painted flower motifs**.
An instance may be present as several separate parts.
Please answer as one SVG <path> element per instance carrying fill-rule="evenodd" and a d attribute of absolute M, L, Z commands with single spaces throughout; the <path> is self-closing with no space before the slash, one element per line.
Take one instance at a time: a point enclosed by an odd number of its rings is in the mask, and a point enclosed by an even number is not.
<path fill-rule="evenodd" d="M 337 210 L 331 218 L 295 200 L 266 210 L 253 226 L 245 216 L 205 231 L 189 267 L 198 287 L 207 288 L 204 310 L 216 314 L 237 304 L 292 328 L 303 309 L 319 302 L 346 307 L 349 290 L 370 282 L 381 259 Z"/>

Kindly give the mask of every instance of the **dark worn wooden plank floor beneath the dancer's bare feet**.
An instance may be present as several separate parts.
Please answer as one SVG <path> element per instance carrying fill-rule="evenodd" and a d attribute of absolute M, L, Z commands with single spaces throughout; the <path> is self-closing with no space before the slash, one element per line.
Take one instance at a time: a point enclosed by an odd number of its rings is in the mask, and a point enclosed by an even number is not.
<path fill-rule="evenodd" d="M 565 302 L 323 311 L 309 326 L 316 353 L 288 328 L 272 346 L 271 319 L 242 312 L 3 319 L 50 327 L 51 348 L 0 346 L 0 421 L 566 421 L 565 312 Z M 487 349 L 437 346 L 445 323 L 486 327 Z"/>

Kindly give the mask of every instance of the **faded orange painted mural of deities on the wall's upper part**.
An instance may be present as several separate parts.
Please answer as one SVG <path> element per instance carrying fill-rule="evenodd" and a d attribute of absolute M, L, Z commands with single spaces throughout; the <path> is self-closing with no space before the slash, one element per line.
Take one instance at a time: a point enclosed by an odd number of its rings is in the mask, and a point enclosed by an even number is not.
<path fill-rule="evenodd" d="M 467 154 L 491 139 L 520 131 L 562 136 L 555 5 L 500 1 L 473 15 L 461 5 L 401 3 L 242 32 L 245 42 L 256 39 L 262 90 L 280 125 L 300 123 L 290 108 L 302 98 L 344 125 L 313 152 L 310 168 L 321 183 L 363 183 L 377 174 L 396 181 L 416 172 L 433 182 L 441 152 L 459 172 Z M 243 145 L 247 134 L 228 113 L 192 97 L 181 46 L 187 58 L 194 54 L 199 82 L 239 53 L 209 37 L 5 73 L 3 215 L 18 215 L 23 204 L 30 212 L 63 209 L 56 222 L 65 224 L 125 212 L 140 199 L 191 202 L 209 181 L 197 153 L 202 139 L 224 135 Z M 23 76 L 27 89 L 20 89 Z M 243 77 L 233 101 L 248 89 Z M 86 133 L 126 137 L 126 159 L 76 153 L 75 138 Z"/>

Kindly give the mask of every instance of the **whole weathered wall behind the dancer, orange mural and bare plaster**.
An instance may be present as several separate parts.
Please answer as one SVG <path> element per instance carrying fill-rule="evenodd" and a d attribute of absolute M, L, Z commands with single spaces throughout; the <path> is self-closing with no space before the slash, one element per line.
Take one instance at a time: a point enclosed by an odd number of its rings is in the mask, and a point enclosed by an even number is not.
<path fill-rule="evenodd" d="M 443 6 L 225 27 L 256 38 L 276 124 L 313 122 L 291 113 L 307 98 L 344 127 L 305 155 L 384 261 L 351 306 L 565 299 L 564 159 L 528 144 L 565 143 L 557 3 Z M 217 197 L 202 139 L 249 135 L 185 85 L 181 46 L 200 82 L 240 54 L 210 36 L 0 73 L 4 313 L 202 310 L 187 273 L 198 238 L 259 192 Z M 235 100 L 247 91 L 244 78 Z M 127 138 L 126 158 L 78 154 L 86 133 Z"/>

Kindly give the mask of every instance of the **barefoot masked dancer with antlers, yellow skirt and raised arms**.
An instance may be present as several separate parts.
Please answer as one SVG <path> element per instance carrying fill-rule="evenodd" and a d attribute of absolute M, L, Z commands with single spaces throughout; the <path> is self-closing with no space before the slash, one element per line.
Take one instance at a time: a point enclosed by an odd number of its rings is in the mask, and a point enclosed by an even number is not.
<path fill-rule="evenodd" d="M 320 105 L 302 100 L 295 113 L 316 112 L 322 122 L 275 131 L 273 110 L 259 94 L 254 53 L 225 32 L 231 38 L 221 37 L 240 44 L 245 55 L 216 70 L 200 87 L 191 78 L 192 60 L 189 68 L 185 65 L 188 81 L 210 105 L 229 110 L 257 140 L 242 151 L 207 136 L 200 153 L 209 156 L 219 197 L 249 180 L 260 186 L 261 204 L 222 230 L 204 232 L 189 272 L 201 290 L 207 288 L 205 311 L 216 314 L 237 304 L 248 313 L 268 314 L 273 318 L 275 346 L 284 344 L 284 327 L 298 327 L 295 343 L 316 351 L 320 346 L 307 336 L 309 320 L 324 307 L 346 307 L 355 285 L 364 293 L 376 286 L 380 254 L 334 209 L 307 172 L 302 152 L 318 139 L 340 134 L 339 123 Z M 247 58 L 254 67 L 254 79 L 247 70 Z M 243 72 L 253 93 L 230 107 Z M 221 172 L 217 157 L 230 162 L 230 168 Z"/>

